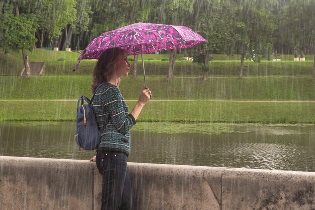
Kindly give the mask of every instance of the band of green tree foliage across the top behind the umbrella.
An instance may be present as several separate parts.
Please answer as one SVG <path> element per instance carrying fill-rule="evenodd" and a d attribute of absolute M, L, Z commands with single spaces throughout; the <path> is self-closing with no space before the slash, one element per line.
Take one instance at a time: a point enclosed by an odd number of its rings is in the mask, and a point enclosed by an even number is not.
<path fill-rule="evenodd" d="M 13 7 L 11 12 L 7 5 Z M 15 6 L 20 17 L 12 12 Z M 63 39 L 68 44 L 67 34 L 76 40 L 71 45 L 84 49 L 106 31 L 151 22 L 185 25 L 197 31 L 208 43 L 197 45 L 193 53 L 204 57 L 237 53 L 242 60 L 258 54 L 269 59 L 272 52 L 315 51 L 313 8 L 315 1 L 309 0 L 4 0 L 0 2 L 0 40 L 6 50 L 22 45 L 31 48 L 35 30 L 44 46 Z M 26 28 L 29 30 L 23 33 Z M 21 40 L 14 38 L 18 34 Z"/>

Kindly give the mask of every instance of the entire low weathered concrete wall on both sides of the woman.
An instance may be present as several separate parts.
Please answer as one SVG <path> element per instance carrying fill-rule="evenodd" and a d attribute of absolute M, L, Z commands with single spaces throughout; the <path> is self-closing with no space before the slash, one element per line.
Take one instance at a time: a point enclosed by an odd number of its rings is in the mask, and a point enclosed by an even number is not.
<path fill-rule="evenodd" d="M 315 173 L 128 163 L 135 209 L 315 210 Z M 95 163 L 0 156 L 0 209 L 100 209 Z"/>

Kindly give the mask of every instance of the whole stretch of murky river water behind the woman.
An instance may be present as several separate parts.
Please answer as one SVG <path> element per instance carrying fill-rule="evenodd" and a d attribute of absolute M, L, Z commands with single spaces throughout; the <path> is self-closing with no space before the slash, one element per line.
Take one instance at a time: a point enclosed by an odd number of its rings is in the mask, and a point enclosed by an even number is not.
<path fill-rule="evenodd" d="M 197 124 L 215 132 L 183 123 L 168 123 L 172 131 L 142 125 L 132 129 L 129 162 L 315 172 L 315 125 Z M 2 121 L 0 155 L 89 160 L 95 152 L 78 150 L 74 129 L 74 122 Z"/>

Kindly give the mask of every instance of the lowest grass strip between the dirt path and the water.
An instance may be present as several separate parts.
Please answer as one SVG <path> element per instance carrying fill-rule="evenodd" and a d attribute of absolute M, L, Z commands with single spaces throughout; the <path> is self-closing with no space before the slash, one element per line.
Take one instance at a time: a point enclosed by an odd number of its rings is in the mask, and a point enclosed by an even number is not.
<path fill-rule="evenodd" d="M 130 109 L 135 102 L 127 102 Z M 75 120 L 75 101 L 0 101 L 0 120 Z M 138 121 L 315 123 L 313 103 L 154 102 Z"/>

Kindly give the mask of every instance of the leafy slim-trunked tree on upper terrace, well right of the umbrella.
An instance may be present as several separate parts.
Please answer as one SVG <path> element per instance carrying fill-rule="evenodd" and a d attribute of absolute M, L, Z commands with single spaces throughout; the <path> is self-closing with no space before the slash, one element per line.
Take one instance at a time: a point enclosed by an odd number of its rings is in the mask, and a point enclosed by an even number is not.
<path fill-rule="evenodd" d="M 247 53 L 268 54 L 273 46 L 273 32 L 277 28 L 274 16 L 267 9 L 268 1 L 240 0 L 235 5 L 233 20 L 232 53 L 241 54 L 240 78 L 243 77 Z"/>

